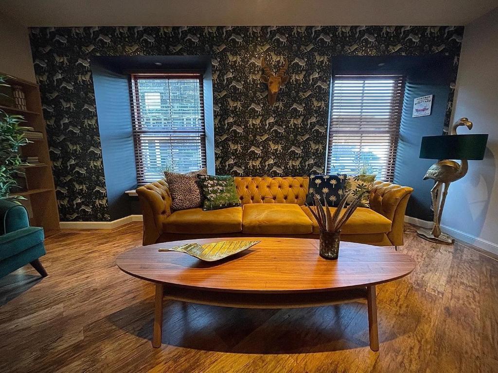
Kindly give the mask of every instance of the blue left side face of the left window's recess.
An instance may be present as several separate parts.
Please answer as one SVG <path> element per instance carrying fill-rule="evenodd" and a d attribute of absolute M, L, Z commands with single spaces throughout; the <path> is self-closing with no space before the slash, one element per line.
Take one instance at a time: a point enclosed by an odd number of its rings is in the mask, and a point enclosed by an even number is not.
<path fill-rule="evenodd" d="M 92 73 L 107 188 L 107 198 L 99 195 L 98 200 L 108 203 L 111 220 L 115 220 L 131 214 L 130 199 L 124 190 L 136 186 L 128 80 L 97 61 Z M 103 194 L 98 190 L 95 193 Z"/>

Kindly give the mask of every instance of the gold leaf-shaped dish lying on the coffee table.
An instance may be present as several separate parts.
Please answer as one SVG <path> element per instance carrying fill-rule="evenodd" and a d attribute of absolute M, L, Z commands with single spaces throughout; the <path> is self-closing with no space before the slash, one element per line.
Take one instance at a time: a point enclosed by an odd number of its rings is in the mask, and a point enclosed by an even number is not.
<path fill-rule="evenodd" d="M 177 251 L 179 253 L 187 253 L 204 262 L 215 262 L 247 250 L 259 242 L 261 241 L 220 241 L 203 245 L 185 244 L 174 246 L 170 249 L 161 248 L 159 251 Z"/>

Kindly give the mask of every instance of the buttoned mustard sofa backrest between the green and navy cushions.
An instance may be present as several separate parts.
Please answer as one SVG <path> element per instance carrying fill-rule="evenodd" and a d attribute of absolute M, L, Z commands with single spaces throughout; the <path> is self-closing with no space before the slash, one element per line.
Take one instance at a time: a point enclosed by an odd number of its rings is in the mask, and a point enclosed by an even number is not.
<path fill-rule="evenodd" d="M 308 178 L 235 177 L 235 186 L 242 204 L 295 203 L 306 201 Z"/>

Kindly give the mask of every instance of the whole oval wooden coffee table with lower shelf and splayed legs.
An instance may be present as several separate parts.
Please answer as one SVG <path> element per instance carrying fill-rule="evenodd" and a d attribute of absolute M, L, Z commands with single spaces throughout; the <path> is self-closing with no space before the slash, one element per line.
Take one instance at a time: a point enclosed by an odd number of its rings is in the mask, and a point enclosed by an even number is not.
<path fill-rule="evenodd" d="M 400 279 L 415 268 L 393 249 L 341 242 L 339 259 L 318 255 L 318 240 L 254 238 L 260 243 L 225 260 L 205 263 L 187 254 L 159 252 L 185 243 L 141 246 L 118 256 L 128 275 L 156 284 L 152 346 L 161 346 L 163 297 L 240 308 L 313 307 L 367 300 L 370 348 L 378 351 L 375 285 Z"/>

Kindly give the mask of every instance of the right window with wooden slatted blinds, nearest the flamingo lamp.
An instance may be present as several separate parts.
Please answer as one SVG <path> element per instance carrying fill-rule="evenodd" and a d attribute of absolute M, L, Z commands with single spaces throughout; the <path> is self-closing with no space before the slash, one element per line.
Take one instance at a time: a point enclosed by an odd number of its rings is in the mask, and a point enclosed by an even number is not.
<path fill-rule="evenodd" d="M 399 75 L 337 75 L 332 83 L 328 173 L 372 173 L 390 181 L 403 106 Z"/>

